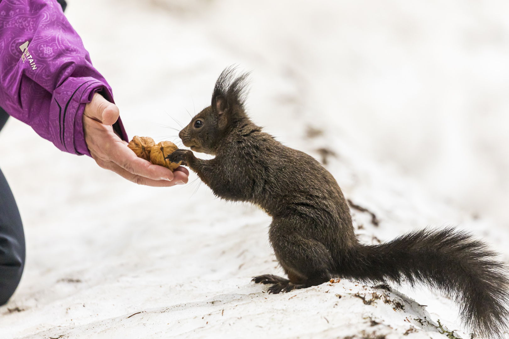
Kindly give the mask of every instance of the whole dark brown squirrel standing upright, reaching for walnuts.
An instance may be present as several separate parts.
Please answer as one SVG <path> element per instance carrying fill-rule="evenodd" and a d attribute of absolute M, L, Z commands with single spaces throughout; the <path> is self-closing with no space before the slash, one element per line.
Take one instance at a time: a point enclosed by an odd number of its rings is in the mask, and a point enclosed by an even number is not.
<path fill-rule="evenodd" d="M 288 279 L 264 274 L 253 281 L 272 284 L 268 291 L 276 294 L 333 277 L 420 281 L 453 297 L 474 333 L 502 337 L 509 322 L 509 280 L 496 253 L 452 228 L 361 244 L 334 177 L 313 157 L 282 145 L 249 119 L 246 78 L 236 77 L 231 67 L 221 73 L 211 106 L 179 133 L 191 150 L 178 149 L 166 159 L 182 161 L 216 196 L 256 204 L 272 217 L 270 243 Z M 215 158 L 198 159 L 192 151 Z"/>

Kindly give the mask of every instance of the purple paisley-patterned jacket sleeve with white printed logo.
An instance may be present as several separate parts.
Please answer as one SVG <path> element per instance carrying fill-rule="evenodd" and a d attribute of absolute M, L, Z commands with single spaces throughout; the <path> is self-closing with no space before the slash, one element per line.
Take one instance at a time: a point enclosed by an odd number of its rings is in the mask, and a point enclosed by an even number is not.
<path fill-rule="evenodd" d="M 61 150 L 90 156 L 81 119 L 97 91 L 114 102 L 55 0 L 0 0 L 0 107 Z"/>

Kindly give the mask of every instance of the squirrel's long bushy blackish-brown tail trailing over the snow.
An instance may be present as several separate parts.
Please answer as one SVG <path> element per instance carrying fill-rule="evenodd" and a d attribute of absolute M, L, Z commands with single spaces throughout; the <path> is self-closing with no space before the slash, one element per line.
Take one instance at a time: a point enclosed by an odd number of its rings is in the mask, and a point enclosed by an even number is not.
<path fill-rule="evenodd" d="M 497 254 L 472 235 L 425 229 L 379 245 L 361 245 L 340 266 L 358 280 L 423 282 L 454 298 L 475 334 L 503 337 L 509 325 L 509 280 Z"/>

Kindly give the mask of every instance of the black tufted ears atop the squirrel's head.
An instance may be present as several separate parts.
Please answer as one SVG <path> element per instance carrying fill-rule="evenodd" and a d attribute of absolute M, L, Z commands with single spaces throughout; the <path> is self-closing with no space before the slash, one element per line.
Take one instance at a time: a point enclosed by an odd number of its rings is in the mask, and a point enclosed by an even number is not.
<path fill-rule="evenodd" d="M 236 69 L 236 66 L 227 67 L 217 78 L 212 94 L 212 107 L 217 110 L 218 114 L 224 113 L 228 109 L 235 110 L 235 107 L 244 108 L 249 73 L 237 76 Z"/>

